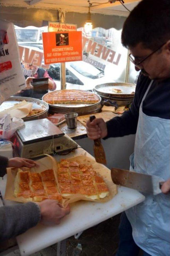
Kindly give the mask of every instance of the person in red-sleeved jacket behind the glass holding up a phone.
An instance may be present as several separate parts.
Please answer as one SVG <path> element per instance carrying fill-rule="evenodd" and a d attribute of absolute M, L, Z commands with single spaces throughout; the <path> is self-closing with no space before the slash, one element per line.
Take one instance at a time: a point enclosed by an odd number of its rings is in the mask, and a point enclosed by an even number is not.
<path fill-rule="evenodd" d="M 33 91 L 33 86 L 31 85 L 31 82 L 32 82 L 33 78 L 48 78 L 48 89 L 50 91 L 56 90 L 56 83 L 49 76 L 47 70 L 45 70 L 41 67 L 37 67 L 37 66 L 34 66 L 34 65 L 24 63 L 24 61 L 22 61 L 22 65 L 25 69 L 31 70 L 31 77 L 28 77 L 27 75 L 25 75 L 26 87 L 24 88 L 24 90 L 15 94 L 15 96 L 37 98 L 36 93 L 34 93 L 34 91 Z M 43 94 L 41 95 L 41 97 L 42 96 L 43 96 Z M 38 98 L 39 98 L 39 95 L 38 95 Z"/>

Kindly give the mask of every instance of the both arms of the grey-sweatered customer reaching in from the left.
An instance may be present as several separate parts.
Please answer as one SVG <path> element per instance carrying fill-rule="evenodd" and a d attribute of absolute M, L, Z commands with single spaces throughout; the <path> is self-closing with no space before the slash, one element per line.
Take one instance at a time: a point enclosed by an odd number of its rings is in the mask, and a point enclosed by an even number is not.
<path fill-rule="evenodd" d="M 0 156 L 0 177 L 6 174 L 7 167 L 34 167 L 36 162 L 25 158 Z M 1 200 L 1 199 L 0 199 Z M 46 199 L 40 203 L 18 203 L 12 206 L 0 207 L 0 240 L 6 240 L 24 233 L 38 223 L 57 225 L 61 219 L 70 213 L 69 206 L 63 208 L 56 200 Z"/>

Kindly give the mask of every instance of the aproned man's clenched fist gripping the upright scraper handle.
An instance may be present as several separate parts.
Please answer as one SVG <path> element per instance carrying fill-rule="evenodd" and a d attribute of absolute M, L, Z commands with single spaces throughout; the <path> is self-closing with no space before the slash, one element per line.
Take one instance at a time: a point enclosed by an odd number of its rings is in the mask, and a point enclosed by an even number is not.
<path fill-rule="evenodd" d="M 86 123 L 87 136 L 89 139 L 104 138 L 107 136 L 107 126 L 102 118 L 96 118 Z"/>

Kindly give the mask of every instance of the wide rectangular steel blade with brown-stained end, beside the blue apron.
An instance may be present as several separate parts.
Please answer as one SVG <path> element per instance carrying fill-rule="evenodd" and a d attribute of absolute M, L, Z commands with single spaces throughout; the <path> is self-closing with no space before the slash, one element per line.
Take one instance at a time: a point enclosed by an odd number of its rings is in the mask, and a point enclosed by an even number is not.
<path fill-rule="evenodd" d="M 111 177 L 112 181 L 120 186 L 136 189 L 146 194 L 157 195 L 162 193 L 161 186 L 164 180 L 154 175 L 112 168 Z"/>

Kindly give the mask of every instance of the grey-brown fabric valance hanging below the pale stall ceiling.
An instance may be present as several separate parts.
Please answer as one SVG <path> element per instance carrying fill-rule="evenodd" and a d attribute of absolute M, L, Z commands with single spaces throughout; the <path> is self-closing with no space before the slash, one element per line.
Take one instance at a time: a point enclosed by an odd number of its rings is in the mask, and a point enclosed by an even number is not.
<path fill-rule="evenodd" d="M 24 7 L 1 7 L 1 19 L 11 21 L 19 27 L 35 26 L 42 27 L 48 25 L 48 21 L 58 20 L 57 10 L 42 10 L 37 8 L 27 9 Z M 66 23 L 77 24 L 77 27 L 83 27 L 87 19 L 86 13 L 67 12 L 65 14 Z M 109 29 L 121 29 L 125 17 L 111 16 L 95 13 L 91 15 L 93 27 L 103 27 Z"/>

